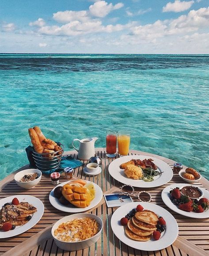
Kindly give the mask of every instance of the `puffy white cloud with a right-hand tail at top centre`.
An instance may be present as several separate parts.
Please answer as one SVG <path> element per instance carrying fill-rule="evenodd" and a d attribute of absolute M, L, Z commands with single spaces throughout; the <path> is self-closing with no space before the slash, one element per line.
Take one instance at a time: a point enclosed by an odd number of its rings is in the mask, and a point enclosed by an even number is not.
<path fill-rule="evenodd" d="M 97 1 L 94 4 L 89 6 L 89 11 L 90 11 L 91 15 L 93 15 L 95 17 L 103 18 L 106 15 L 108 15 L 108 13 L 110 13 L 110 11 L 120 9 L 123 6 L 124 6 L 124 4 L 122 4 L 122 3 L 113 5 L 112 3 L 108 4 L 106 1 Z"/>

